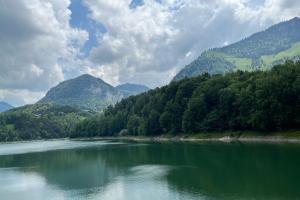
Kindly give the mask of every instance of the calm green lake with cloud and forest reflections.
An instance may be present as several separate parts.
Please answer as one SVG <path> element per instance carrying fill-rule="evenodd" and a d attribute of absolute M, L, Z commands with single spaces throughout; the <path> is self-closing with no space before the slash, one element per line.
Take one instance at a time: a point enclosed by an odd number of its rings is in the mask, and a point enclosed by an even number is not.
<path fill-rule="evenodd" d="M 0 144 L 0 199 L 300 199 L 300 145 Z"/>

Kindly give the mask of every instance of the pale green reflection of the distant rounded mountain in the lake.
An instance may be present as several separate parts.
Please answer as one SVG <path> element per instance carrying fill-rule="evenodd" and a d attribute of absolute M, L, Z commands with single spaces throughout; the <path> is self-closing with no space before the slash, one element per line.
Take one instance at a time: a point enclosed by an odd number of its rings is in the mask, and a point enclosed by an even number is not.
<path fill-rule="evenodd" d="M 102 187 L 122 174 L 123 169 L 108 167 L 99 153 L 101 148 L 3 156 L 0 167 L 20 167 L 18 170 L 39 173 L 49 184 L 62 189 Z"/>

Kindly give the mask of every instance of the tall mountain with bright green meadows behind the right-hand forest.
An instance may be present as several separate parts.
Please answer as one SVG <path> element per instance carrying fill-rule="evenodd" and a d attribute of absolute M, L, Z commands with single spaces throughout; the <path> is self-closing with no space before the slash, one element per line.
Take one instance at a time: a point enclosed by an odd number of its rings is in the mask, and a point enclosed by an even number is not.
<path fill-rule="evenodd" d="M 265 70 L 288 59 L 300 59 L 300 19 L 297 17 L 234 44 L 204 51 L 173 80 L 206 72 L 217 74 L 236 70 Z"/>

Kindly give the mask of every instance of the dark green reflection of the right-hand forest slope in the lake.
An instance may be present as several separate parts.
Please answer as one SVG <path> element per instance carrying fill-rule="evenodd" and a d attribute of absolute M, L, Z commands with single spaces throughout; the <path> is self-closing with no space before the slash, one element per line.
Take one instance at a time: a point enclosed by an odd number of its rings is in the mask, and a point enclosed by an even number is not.
<path fill-rule="evenodd" d="M 169 143 L 104 150 L 109 166 L 176 166 L 167 176 L 179 192 L 219 198 L 298 198 L 297 145 Z"/>

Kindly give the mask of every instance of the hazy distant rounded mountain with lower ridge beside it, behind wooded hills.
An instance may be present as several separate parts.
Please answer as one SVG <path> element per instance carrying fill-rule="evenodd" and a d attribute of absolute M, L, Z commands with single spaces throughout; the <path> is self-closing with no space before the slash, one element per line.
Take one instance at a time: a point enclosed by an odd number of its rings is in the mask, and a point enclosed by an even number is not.
<path fill-rule="evenodd" d="M 136 84 L 114 87 L 88 74 L 61 82 L 50 89 L 38 103 L 55 103 L 87 110 L 101 110 L 124 97 L 136 95 L 149 88 Z"/>

